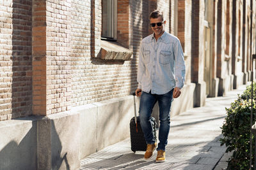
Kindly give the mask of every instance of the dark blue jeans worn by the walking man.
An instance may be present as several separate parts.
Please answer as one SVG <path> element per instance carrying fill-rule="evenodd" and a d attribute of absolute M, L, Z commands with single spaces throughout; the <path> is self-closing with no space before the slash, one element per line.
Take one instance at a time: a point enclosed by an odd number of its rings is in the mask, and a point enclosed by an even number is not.
<path fill-rule="evenodd" d="M 159 143 L 157 150 L 165 150 L 165 146 L 168 142 L 168 134 L 170 131 L 170 108 L 172 105 L 173 90 L 162 95 L 151 94 L 151 92 L 142 92 L 140 99 L 140 124 L 141 129 L 145 136 L 145 141 L 147 144 L 156 143 L 156 139 L 153 135 L 153 127 L 150 124 L 150 117 L 152 114 L 152 109 L 156 102 L 159 104 Z"/>

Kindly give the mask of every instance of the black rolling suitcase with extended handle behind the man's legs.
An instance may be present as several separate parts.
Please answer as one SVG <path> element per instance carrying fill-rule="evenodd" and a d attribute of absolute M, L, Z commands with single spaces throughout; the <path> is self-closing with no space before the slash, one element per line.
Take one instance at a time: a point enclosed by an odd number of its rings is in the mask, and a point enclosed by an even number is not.
<path fill-rule="evenodd" d="M 143 131 L 140 126 L 140 117 L 136 116 L 136 103 L 135 93 L 132 94 L 134 99 L 134 117 L 130 121 L 130 134 L 131 134 L 131 150 L 135 153 L 136 151 L 146 151 L 147 143 L 144 138 Z M 156 138 L 156 120 L 154 117 L 150 117 L 150 122 L 153 127 L 154 138 Z"/>

